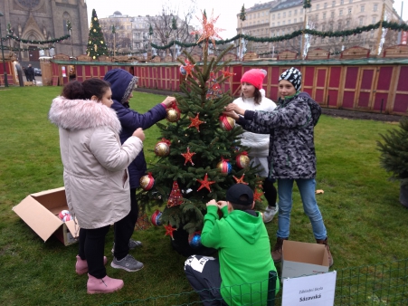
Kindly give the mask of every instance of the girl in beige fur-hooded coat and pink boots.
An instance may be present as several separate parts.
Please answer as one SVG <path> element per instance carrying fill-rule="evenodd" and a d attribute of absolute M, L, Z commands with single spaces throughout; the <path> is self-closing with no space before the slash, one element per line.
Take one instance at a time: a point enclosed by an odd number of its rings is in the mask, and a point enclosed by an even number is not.
<path fill-rule="evenodd" d="M 65 194 L 80 230 L 76 272 L 89 275 L 88 293 L 108 293 L 123 287 L 106 275 L 103 256 L 109 226 L 130 210 L 128 165 L 143 148 L 137 129 L 120 145 L 120 122 L 110 109 L 109 83 L 89 79 L 65 85 L 52 100 L 49 119 L 59 127 Z"/>

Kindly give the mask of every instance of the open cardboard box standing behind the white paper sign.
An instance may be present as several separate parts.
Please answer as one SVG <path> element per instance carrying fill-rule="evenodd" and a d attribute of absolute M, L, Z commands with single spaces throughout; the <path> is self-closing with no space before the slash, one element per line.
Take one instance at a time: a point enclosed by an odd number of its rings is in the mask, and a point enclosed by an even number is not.
<path fill-rule="evenodd" d="M 281 279 L 328 272 L 328 253 L 324 244 L 284 240 Z"/>

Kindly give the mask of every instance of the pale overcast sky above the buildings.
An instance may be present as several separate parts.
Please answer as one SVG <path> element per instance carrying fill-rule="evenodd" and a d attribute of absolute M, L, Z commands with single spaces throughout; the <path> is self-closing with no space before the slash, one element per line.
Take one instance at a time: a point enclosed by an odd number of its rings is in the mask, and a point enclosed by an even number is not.
<path fill-rule="evenodd" d="M 300 1 L 300 0 L 299 0 Z M 245 8 L 249 8 L 257 3 L 266 3 L 266 1 L 256 0 L 242 0 L 242 1 L 227 1 L 227 0 L 196 0 L 195 16 L 201 18 L 200 10 L 205 9 L 207 16 L 211 16 L 213 10 L 213 16 L 219 15 L 215 26 L 225 31 L 219 33 L 223 39 L 232 38 L 236 35 L 236 14 L 241 12 L 242 5 Z M 394 0 L 394 8 L 401 14 L 401 3 L 403 2 L 403 20 L 408 20 L 408 0 Z M 119 11 L 121 14 L 128 14 L 129 16 L 138 15 L 156 15 L 160 14 L 163 3 L 170 3 L 172 7 L 177 9 L 177 5 L 180 15 L 182 15 L 183 7 L 187 7 L 191 1 L 189 0 L 147 0 L 147 2 L 137 0 L 86 0 L 88 5 L 88 19 L 92 14 L 92 9 L 96 10 L 98 18 L 106 18 L 113 14 L 115 11 Z M 311 1 L 313 5 L 313 0 Z M 194 18 L 195 24 L 198 23 L 197 18 Z"/>

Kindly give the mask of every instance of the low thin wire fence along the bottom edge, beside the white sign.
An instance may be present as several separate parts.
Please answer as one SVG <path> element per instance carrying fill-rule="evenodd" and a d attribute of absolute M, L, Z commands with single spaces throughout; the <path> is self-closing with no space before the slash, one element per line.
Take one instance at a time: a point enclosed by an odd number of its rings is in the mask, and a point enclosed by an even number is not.
<path fill-rule="evenodd" d="M 268 306 L 282 305 L 281 291 L 276 297 L 271 294 L 273 277 L 271 274 Z M 196 292 L 182 292 L 111 305 L 187 306 L 202 302 Z M 335 305 L 408 305 L 408 259 L 337 270 Z"/>

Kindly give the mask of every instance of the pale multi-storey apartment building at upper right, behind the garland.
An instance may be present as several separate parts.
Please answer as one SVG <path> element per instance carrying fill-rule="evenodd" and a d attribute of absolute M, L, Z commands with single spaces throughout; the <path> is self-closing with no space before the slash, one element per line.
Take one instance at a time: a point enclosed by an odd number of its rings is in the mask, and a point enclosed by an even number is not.
<path fill-rule="evenodd" d="M 393 8 L 393 0 L 313 0 L 311 1 L 311 7 L 306 10 L 303 8 L 303 1 L 301 0 L 277 0 L 273 1 L 273 3 L 274 5 L 270 5 L 269 12 L 269 37 L 292 33 L 303 29 L 305 24 L 307 28 L 322 32 L 336 32 L 376 24 L 381 20 L 383 5 L 385 20 L 399 20 L 399 16 Z M 247 14 L 254 11 L 257 6 L 262 5 L 254 5 L 247 10 Z M 238 21 L 240 22 L 239 15 Z M 260 27 L 254 27 L 254 24 L 248 23 L 249 21 L 248 18 L 243 23 L 242 31 L 251 33 L 253 36 L 260 36 L 261 32 L 257 31 Z M 320 38 L 309 36 L 307 40 L 310 47 L 324 48 L 331 53 L 339 53 L 343 49 L 354 45 L 363 46 L 374 53 L 378 44 L 378 30 L 356 33 L 356 35 L 346 37 Z M 396 33 L 388 31 L 384 36 L 384 40 L 384 46 L 396 44 Z M 254 45 L 256 46 L 256 44 Z M 270 48 L 277 53 L 283 50 L 300 52 L 301 37 L 280 43 L 270 43 L 268 49 Z M 255 48 L 253 51 L 262 53 L 264 49 Z"/>

